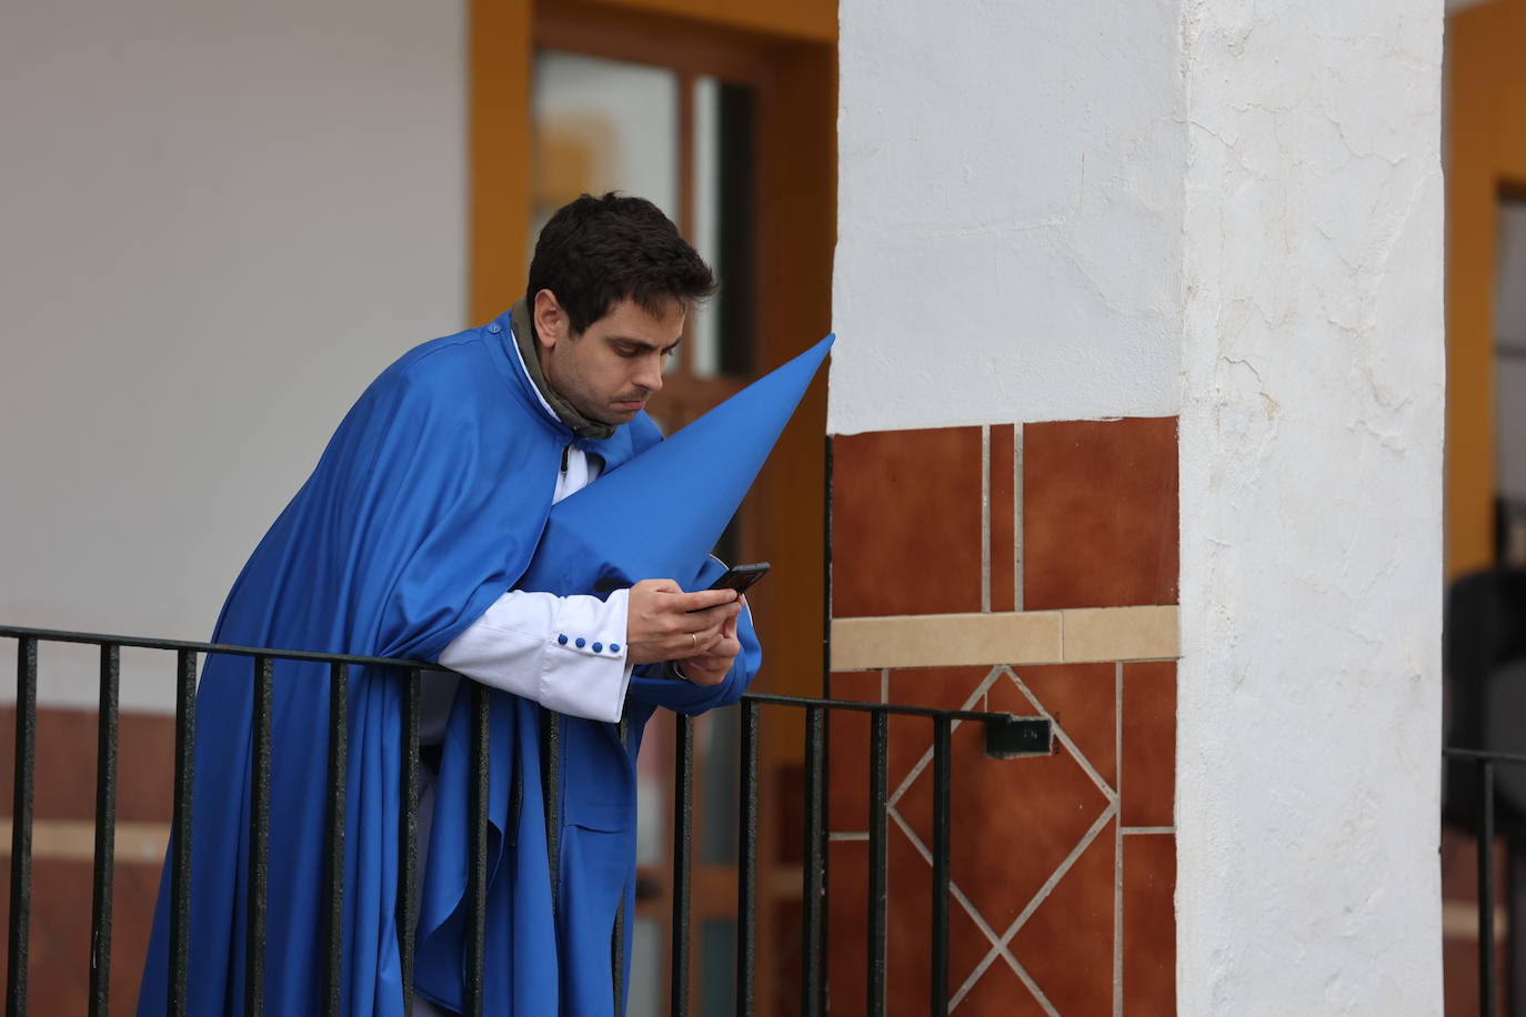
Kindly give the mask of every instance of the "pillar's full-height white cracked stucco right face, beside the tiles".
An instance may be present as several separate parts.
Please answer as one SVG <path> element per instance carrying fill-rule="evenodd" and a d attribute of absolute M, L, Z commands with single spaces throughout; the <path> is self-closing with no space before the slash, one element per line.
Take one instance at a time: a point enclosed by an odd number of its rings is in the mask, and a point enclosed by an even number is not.
<path fill-rule="evenodd" d="M 1189 0 L 1184 1014 L 1439 1014 L 1441 0 Z"/>

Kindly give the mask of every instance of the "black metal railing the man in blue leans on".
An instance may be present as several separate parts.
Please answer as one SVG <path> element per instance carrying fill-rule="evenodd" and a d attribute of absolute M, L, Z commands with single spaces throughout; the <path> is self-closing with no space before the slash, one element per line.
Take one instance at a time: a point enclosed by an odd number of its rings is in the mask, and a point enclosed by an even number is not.
<path fill-rule="evenodd" d="M 69 633 L 40 628 L 0 627 L 0 637 L 17 642 L 15 688 L 15 788 L 11 843 L 11 912 L 8 944 L 6 1014 L 20 1017 L 27 1000 L 27 933 L 31 921 L 32 869 L 32 793 L 37 752 L 37 675 L 41 643 L 87 643 L 101 651 L 101 698 L 98 717 L 96 817 L 93 906 L 90 938 L 90 1014 L 104 1017 L 110 1003 L 111 953 L 111 868 L 113 833 L 116 823 L 118 767 L 118 700 L 122 648 L 160 650 L 175 654 L 175 775 L 174 813 L 171 819 L 169 858 L 169 971 L 168 1011 L 175 1017 L 188 1012 L 188 956 L 191 916 L 191 836 L 192 788 L 195 784 L 195 685 L 198 654 L 227 654 L 252 659 L 252 808 L 249 826 L 249 901 L 244 965 L 246 1012 L 264 1009 L 264 939 L 266 939 L 266 875 L 270 854 L 270 761 L 272 761 L 272 692 L 276 660 L 317 662 L 330 665 L 328 720 L 328 800 L 325 839 L 324 897 L 324 996 L 322 1012 L 340 1012 L 340 977 L 343 956 L 343 872 L 345 872 L 345 772 L 348 753 L 348 677 L 351 666 L 378 666 L 398 675 L 403 695 L 403 759 L 400 773 L 401 820 L 400 872 L 397 892 L 398 951 L 403 970 L 404 1012 L 412 1012 L 414 926 L 418 881 L 418 793 L 420 793 L 420 688 L 423 671 L 435 668 L 424 660 L 400 660 L 353 654 L 305 653 L 266 646 L 232 646 L 221 643 L 185 642 L 174 639 L 139 639 L 98 633 Z M 821 1014 L 826 1009 L 824 958 L 824 890 L 826 890 L 826 717 L 829 712 L 865 712 L 870 715 L 870 874 L 865 922 L 868 929 L 867 987 L 868 1012 L 885 1009 L 885 933 L 887 933 L 887 758 L 890 717 L 920 717 L 932 726 L 932 877 L 928 892 L 932 898 L 932 929 L 929 930 L 928 964 L 932 974 L 929 1008 L 948 1012 L 948 942 L 949 942 L 949 846 L 951 829 L 951 732 L 958 723 L 980 723 L 986 729 L 986 753 L 995 758 L 1042 755 L 1050 752 L 1050 723 L 1035 717 L 1012 717 L 977 711 L 940 711 L 885 703 L 859 703 L 790 695 L 748 694 L 740 703 L 740 787 L 739 787 L 739 849 L 737 849 L 737 954 L 736 1012 L 754 1014 L 757 990 L 757 874 L 758 874 L 758 714 L 763 707 L 804 711 L 804 866 L 803 950 L 801 950 L 801 1012 Z M 485 686 L 473 686 L 473 726 L 470 790 L 472 863 L 467 875 L 467 958 L 465 1012 L 481 1015 L 484 1000 L 484 939 L 487 926 L 487 826 L 488 826 L 488 709 Z M 678 717 L 673 811 L 673 921 L 671 921 L 671 1012 L 682 1017 L 690 1011 L 688 956 L 693 869 L 693 796 L 694 796 L 694 721 Z M 555 724 L 548 724 L 555 736 Z M 551 746 L 554 749 L 554 746 Z M 557 753 L 548 753 L 555 759 Z M 1491 765 L 1491 764 L 1486 764 Z M 546 767 L 548 788 L 559 775 Z M 560 829 L 557 794 L 546 796 L 546 828 L 552 858 Z M 555 865 L 552 861 L 552 865 Z M 554 880 L 552 880 L 554 886 Z M 1485 898 L 1488 900 L 1488 898 Z M 621 910 L 617 922 L 624 922 Z M 620 929 L 615 942 L 621 942 Z M 617 999 L 621 987 L 618 971 L 623 958 L 615 956 Z"/>

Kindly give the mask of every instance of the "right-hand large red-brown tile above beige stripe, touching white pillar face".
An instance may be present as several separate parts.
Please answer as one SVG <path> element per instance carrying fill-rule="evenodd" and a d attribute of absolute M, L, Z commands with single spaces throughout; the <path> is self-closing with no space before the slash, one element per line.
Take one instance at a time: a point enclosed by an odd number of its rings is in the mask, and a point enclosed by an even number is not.
<path fill-rule="evenodd" d="M 1177 418 L 1022 428 L 1025 610 L 1175 604 Z"/>

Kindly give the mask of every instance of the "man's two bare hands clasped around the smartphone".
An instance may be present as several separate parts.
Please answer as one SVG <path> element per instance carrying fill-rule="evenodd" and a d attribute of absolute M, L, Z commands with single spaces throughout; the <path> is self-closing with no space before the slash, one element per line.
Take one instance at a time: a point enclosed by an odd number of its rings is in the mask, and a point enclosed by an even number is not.
<path fill-rule="evenodd" d="M 736 590 L 684 593 L 673 579 L 642 579 L 630 587 L 626 656 L 632 663 L 682 660 L 694 685 L 716 685 L 742 650 L 740 611 Z M 716 674 L 722 659 L 725 666 Z"/>

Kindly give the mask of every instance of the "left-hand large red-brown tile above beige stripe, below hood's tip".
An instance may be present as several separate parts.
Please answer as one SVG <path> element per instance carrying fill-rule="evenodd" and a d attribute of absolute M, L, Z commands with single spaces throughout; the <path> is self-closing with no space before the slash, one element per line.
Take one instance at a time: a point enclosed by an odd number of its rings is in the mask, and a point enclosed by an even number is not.
<path fill-rule="evenodd" d="M 981 608 L 981 428 L 832 439 L 832 616 Z"/>

